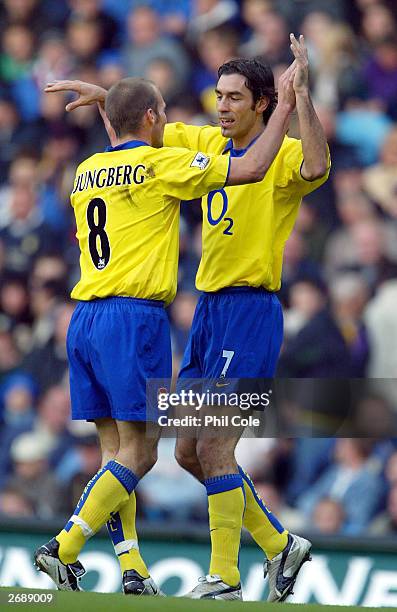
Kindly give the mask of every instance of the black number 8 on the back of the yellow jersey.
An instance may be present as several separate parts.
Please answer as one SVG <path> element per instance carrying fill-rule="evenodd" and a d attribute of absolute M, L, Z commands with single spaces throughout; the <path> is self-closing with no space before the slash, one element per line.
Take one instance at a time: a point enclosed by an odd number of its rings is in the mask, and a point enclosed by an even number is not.
<path fill-rule="evenodd" d="M 88 204 L 87 223 L 90 228 L 90 233 L 88 234 L 88 248 L 90 249 L 92 263 L 97 270 L 103 270 L 109 263 L 110 244 L 108 235 L 105 232 L 106 204 L 102 198 L 94 198 Z M 98 251 L 98 242 L 100 253 Z"/>

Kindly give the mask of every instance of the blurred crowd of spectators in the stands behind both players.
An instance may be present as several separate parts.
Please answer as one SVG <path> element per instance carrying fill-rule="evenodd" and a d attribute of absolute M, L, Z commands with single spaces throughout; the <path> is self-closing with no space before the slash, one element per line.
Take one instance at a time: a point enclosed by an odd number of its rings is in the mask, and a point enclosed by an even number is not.
<path fill-rule="evenodd" d="M 71 423 L 65 337 L 78 279 L 69 205 L 76 165 L 103 150 L 96 106 L 43 93 L 54 79 L 109 88 L 153 80 L 169 121 L 216 124 L 217 68 L 260 56 L 277 80 L 303 33 L 330 144 L 330 180 L 302 204 L 280 298 L 283 377 L 397 374 L 397 6 L 393 0 L 3 0 L 0 2 L 0 513 L 73 510 L 100 456 Z M 296 119 L 291 134 L 299 135 Z M 177 370 L 197 302 L 199 202 L 182 203 Z M 378 401 L 373 398 L 373 401 Z M 291 528 L 397 534 L 393 439 L 243 440 L 241 461 Z M 141 515 L 205 520 L 200 484 L 163 440 L 139 486 Z M 244 463 L 245 462 L 245 463 Z M 183 486 L 182 486 L 183 483 Z M 357 504 L 357 499 L 360 504 Z"/>

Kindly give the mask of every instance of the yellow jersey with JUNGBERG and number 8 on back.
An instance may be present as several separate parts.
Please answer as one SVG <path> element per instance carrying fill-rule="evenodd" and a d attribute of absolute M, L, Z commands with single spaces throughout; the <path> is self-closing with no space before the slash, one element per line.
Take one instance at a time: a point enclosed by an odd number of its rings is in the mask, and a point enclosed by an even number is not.
<path fill-rule="evenodd" d="M 81 278 L 72 298 L 175 297 L 179 203 L 221 189 L 229 160 L 133 140 L 86 159 L 71 204 Z"/>

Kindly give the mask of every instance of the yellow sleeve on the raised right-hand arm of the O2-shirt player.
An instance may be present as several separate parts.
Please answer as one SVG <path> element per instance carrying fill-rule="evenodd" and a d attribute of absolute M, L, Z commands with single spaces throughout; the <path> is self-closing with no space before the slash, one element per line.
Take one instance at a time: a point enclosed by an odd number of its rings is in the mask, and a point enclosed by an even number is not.
<path fill-rule="evenodd" d="M 302 142 L 296 138 L 286 138 L 283 145 L 283 155 L 280 162 L 282 163 L 282 171 L 280 172 L 281 181 L 280 186 L 287 186 L 293 184 L 295 188 L 302 194 L 302 196 L 315 191 L 328 179 L 331 159 L 329 154 L 329 148 L 327 145 L 327 156 L 328 164 L 327 171 L 324 176 L 309 181 L 302 176 L 302 164 L 303 164 L 303 150 Z"/>

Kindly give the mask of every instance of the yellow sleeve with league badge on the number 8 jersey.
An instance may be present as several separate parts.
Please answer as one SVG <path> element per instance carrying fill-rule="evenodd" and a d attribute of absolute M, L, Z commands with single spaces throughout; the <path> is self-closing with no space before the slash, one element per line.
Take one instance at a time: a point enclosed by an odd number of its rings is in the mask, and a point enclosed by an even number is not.
<path fill-rule="evenodd" d="M 163 147 L 154 163 L 163 193 L 180 200 L 193 200 L 224 187 L 229 174 L 228 155 Z"/>

